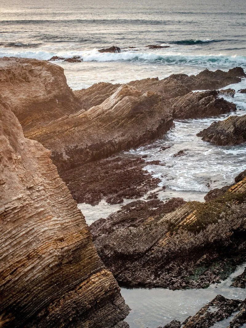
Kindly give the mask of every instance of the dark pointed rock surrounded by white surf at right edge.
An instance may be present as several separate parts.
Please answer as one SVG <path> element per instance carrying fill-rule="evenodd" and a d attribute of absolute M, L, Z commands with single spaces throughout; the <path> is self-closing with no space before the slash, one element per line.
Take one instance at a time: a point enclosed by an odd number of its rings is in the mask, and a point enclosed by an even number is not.
<path fill-rule="evenodd" d="M 242 144 L 246 142 L 246 115 L 230 116 L 223 121 L 213 122 L 197 136 L 219 146 Z"/>

